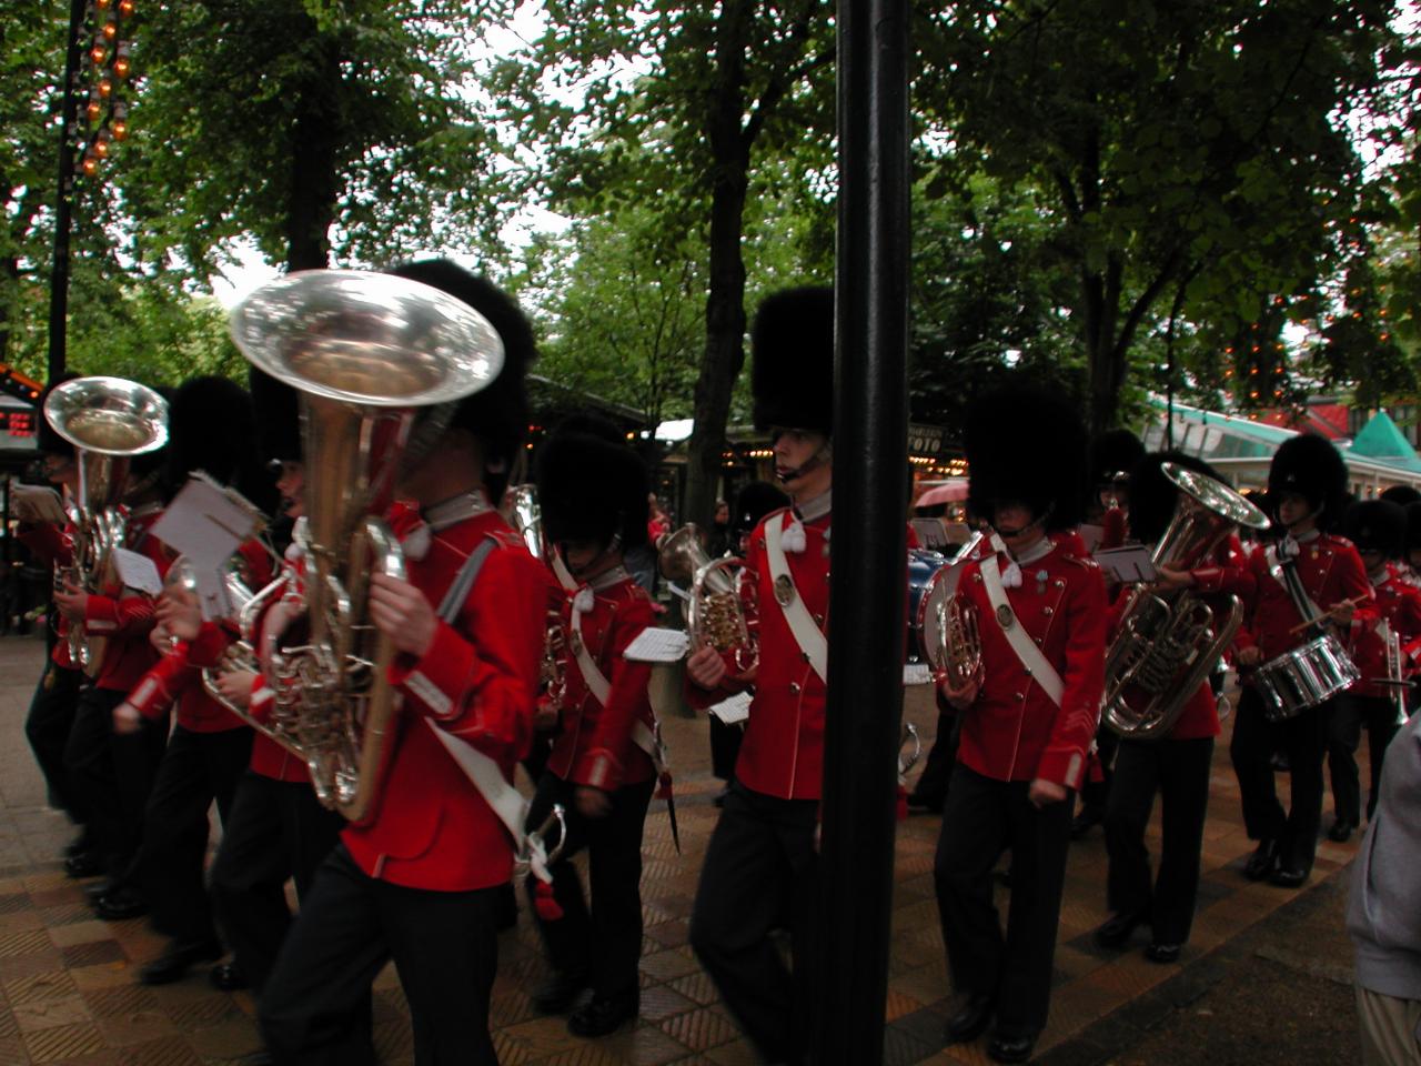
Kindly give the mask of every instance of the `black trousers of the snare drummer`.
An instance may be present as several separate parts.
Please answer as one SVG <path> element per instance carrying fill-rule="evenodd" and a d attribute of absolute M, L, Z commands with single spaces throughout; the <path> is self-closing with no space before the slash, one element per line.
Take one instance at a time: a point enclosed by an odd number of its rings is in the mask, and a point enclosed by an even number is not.
<path fill-rule="evenodd" d="M 1285 867 L 1312 870 L 1323 816 L 1323 752 L 1334 701 L 1310 706 L 1283 722 L 1263 716 L 1263 696 L 1252 685 L 1239 695 L 1229 758 L 1239 780 L 1243 827 L 1250 840 L 1277 840 Z M 1273 752 L 1287 755 L 1290 804 L 1277 802 Z"/>

